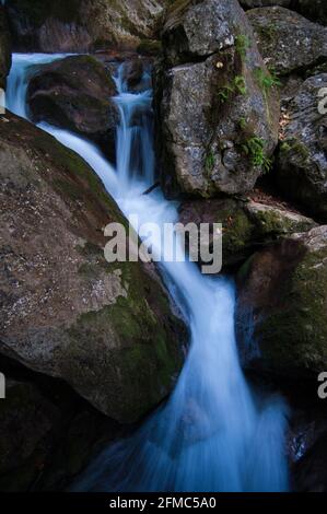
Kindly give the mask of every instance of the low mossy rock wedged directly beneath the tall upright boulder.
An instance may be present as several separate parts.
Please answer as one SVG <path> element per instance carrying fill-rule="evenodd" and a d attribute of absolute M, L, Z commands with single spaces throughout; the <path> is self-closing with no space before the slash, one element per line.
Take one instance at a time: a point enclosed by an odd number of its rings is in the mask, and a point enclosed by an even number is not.
<path fill-rule="evenodd" d="M 179 208 L 179 221 L 184 224 L 192 222 L 198 226 L 201 223 L 222 224 L 224 268 L 240 266 L 256 249 L 287 234 L 315 226 L 313 220 L 282 205 L 233 198 L 184 201 Z"/>

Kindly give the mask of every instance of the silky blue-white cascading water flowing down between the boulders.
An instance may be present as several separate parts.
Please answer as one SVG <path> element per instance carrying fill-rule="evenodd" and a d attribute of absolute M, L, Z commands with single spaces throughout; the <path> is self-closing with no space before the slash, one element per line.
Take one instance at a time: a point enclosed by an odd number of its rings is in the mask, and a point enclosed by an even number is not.
<path fill-rule="evenodd" d="M 60 57 L 14 56 L 8 108 L 26 117 L 26 83 L 33 66 Z M 159 189 L 142 195 L 154 180 L 151 91 L 129 93 L 121 75 L 116 83 L 121 117 L 116 171 L 90 142 L 46 124 L 40 127 L 94 168 L 126 215 L 138 214 L 140 223 L 175 222 L 176 206 Z M 150 243 L 159 252 L 160 242 L 153 237 Z M 190 327 L 185 366 L 166 405 L 131 437 L 103 452 L 74 490 L 287 490 L 287 407 L 277 396 L 250 390 L 243 376 L 234 335 L 232 281 L 201 276 L 188 261 L 163 260 L 161 270 Z"/>

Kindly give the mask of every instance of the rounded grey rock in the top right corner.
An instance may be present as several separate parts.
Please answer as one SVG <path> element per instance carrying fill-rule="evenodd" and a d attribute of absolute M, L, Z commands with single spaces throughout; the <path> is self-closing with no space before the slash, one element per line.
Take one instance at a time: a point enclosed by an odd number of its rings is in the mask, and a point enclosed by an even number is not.
<path fill-rule="evenodd" d="M 281 7 L 247 13 L 260 52 L 279 74 L 303 72 L 327 62 L 327 28 Z"/>

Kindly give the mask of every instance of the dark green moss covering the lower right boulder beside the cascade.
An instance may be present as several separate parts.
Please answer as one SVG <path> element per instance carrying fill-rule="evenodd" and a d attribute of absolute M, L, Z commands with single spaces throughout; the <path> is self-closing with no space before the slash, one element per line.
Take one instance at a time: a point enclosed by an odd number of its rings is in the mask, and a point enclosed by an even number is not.
<path fill-rule="evenodd" d="M 326 249 L 306 254 L 284 290 L 284 307 L 267 317 L 259 328 L 264 357 L 279 369 L 324 371 L 327 362 Z"/>

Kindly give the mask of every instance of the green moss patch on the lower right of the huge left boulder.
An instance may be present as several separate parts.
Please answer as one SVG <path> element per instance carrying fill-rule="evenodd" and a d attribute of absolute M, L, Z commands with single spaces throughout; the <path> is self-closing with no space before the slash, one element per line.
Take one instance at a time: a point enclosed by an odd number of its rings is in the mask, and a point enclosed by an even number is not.
<path fill-rule="evenodd" d="M 184 326 L 171 314 L 167 296 L 139 262 L 104 262 L 105 267 L 109 273 L 120 271 L 124 290 L 112 304 L 81 315 L 70 327 L 67 365 L 72 367 L 68 373 L 79 376 L 79 383 L 87 387 L 90 376 L 84 376 L 84 370 L 94 359 L 90 340 L 96 341 L 96 351 L 103 347 L 102 359 L 96 358 L 98 379 L 107 392 L 112 416 L 131 422 L 171 390 L 172 379 L 183 364 L 178 336 L 172 326 L 176 330 L 180 324 L 180 338 Z M 80 272 L 87 277 L 92 270 L 82 267 Z"/>

